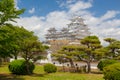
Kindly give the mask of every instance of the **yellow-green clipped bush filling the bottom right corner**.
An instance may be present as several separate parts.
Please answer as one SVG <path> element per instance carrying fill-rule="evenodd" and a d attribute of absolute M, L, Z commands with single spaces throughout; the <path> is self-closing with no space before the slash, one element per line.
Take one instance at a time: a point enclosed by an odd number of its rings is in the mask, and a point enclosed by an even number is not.
<path fill-rule="evenodd" d="M 120 63 L 115 63 L 103 68 L 105 80 L 120 80 Z"/>

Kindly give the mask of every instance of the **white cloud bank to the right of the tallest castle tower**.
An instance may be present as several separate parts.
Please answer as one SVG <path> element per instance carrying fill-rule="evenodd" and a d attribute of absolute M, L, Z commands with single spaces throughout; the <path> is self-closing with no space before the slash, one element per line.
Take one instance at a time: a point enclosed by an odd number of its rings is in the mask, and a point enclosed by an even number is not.
<path fill-rule="evenodd" d="M 120 39 L 120 19 L 115 19 L 118 11 L 113 13 L 106 12 L 101 17 L 89 16 L 86 20 L 86 23 L 91 29 L 91 32 L 95 35 L 98 35 L 101 39 L 106 37 Z M 108 14 L 109 13 L 109 14 Z M 105 16 L 107 15 L 108 16 Z"/>

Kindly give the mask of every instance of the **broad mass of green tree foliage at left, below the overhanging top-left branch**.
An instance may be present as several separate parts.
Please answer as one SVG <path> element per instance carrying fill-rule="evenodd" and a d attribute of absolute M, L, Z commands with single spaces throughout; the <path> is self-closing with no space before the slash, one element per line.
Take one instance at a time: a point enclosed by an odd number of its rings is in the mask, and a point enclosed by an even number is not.
<path fill-rule="evenodd" d="M 43 46 L 33 32 L 17 26 L 3 26 L 0 28 L 0 56 L 15 57 L 22 52 L 25 60 L 41 58 L 41 52 L 49 47 Z M 20 54 L 21 55 L 21 54 Z M 26 57 L 27 55 L 27 57 Z"/>

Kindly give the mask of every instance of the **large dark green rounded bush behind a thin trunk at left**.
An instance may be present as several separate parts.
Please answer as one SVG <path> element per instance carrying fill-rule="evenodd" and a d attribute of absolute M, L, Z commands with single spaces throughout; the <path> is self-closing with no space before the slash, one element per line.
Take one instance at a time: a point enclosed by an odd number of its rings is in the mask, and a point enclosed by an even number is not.
<path fill-rule="evenodd" d="M 9 64 L 8 68 L 13 74 L 25 75 L 32 74 L 35 66 L 32 62 L 29 62 L 27 66 L 25 60 L 14 60 Z"/>

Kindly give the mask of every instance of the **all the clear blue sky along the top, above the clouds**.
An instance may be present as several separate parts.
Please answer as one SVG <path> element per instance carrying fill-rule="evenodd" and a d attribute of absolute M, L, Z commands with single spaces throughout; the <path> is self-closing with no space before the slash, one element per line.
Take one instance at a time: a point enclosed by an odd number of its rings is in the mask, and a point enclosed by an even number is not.
<path fill-rule="evenodd" d="M 26 11 L 22 16 L 46 16 L 49 12 L 56 10 L 67 10 L 65 7 L 60 7 L 60 3 L 65 3 L 67 0 L 19 0 L 18 7 L 25 8 Z M 87 2 L 89 0 L 76 0 Z M 120 0 L 92 0 L 93 7 L 88 9 L 95 13 L 95 16 L 103 15 L 107 10 L 120 10 Z M 29 14 L 29 10 L 35 9 L 33 14 Z"/>

